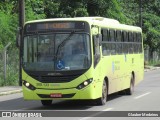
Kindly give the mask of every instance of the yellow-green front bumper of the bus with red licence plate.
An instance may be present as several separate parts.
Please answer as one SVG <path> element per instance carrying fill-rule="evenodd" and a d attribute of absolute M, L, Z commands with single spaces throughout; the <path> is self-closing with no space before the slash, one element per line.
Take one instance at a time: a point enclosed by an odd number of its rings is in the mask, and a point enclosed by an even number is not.
<path fill-rule="evenodd" d="M 23 97 L 25 100 L 54 100 L 54 99 L 96 99 L 96 89 L 93 85 L 89 85 L 83 89 L 67 88 L 67 89 L 35 89 L 30 90 L 23 86 Z"/>

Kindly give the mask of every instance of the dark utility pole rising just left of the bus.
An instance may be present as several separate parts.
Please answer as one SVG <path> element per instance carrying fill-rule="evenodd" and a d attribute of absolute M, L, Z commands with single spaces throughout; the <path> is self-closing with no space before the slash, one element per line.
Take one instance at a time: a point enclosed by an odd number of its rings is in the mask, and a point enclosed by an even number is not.
<path fill-rule="evenodd" d="M 25 22 L 25 0 L 18 0 L 19 3 L 19 33 L 20 33 L 20 41 L 19 41 L 19 85 L 22 85 L 22 59 L 21 59 L 21 53 L 22 53 L 22 46 L 21 41 L 23 39 L 23 26 Z"/>

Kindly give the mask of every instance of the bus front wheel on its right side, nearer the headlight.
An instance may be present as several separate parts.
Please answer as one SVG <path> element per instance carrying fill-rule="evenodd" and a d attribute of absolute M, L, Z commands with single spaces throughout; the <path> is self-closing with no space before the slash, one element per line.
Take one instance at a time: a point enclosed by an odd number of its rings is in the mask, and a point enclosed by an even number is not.
<path fill-rule="evenodd" d="M 105 105 L 107 102 L 107 95 L 108 95 L 108 89 L 107 89 L 107 84 L 106 81 L 103 81 L 103 86 L 102 86 L 102 97 L 97 99 L 97 104 L 98 105 Z"/>

